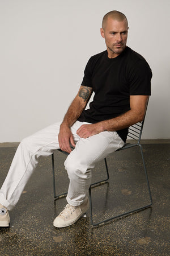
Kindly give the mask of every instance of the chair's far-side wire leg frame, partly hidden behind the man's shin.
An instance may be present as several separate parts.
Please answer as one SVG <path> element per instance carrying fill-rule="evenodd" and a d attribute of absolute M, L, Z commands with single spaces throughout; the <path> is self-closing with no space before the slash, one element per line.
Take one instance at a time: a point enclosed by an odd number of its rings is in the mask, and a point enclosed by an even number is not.
<path fill-rule="evenodd" d="M 92 183 L 91 185 L 103 184 L 103 183 L 105 183 L 105 181 L 107 181 L 109 179 L 107 160 L 104 159 L 104 162 L 105 162 L 105 168 L 106 168 L 106 171 L 107 171 L 107 178 L 104 179 L 104 180 L 100 180 L 100 181 L 97 181 L 95 183 Z M 54 200 L 57 200 L 57 199 L 59 199 L 61 197 L 65 197 L 67 195 L 67 192 L 61 193 L 59 195 L 56 195 L 56 182 L 55 182 L 56 179 L 55 179 L 55 167 L 54 167 L 54 154 L 52 154 L 52 172 L 53 172 L 53 194 L 54 194 Z"/>

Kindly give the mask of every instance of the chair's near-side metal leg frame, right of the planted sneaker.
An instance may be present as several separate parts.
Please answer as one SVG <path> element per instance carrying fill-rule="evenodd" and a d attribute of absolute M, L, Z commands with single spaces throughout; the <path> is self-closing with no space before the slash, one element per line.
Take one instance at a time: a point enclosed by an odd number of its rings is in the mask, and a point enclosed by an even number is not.
<path fill-rule="evenodd" d="M 142 146 L 141 144 L 138 144 L 138 146 L 140 147 L 140 150 L 141 150 L 141 156 L 142 156 L 142 162 L 143 162 L 143 168 L 145 170 L 145 176 L 146 176 L 146 183 L 147 183 L 147 188 L 148 188 L 148 193 L 150 195 L 150 204 L 147 204 L 143 207 L 140 207 L 140 208 L 137 208 L 137 209 L 134 209 L 134 210 L 130 210 L 129 212 L 125 212 L 125 213 L 122 213 L 122 214 L 118 214 L 117 216 L 113 216 L 111 218 L 107 218 L 106 220 L 103 220 L 103 221 L 100 221 L 100 222 L 97 222 L 97 223 L 94 223 L 93 221 L 93 213 L 92 213 L 92 198 L 91 198 L 91 186 L 89 188 L 89 198 L 90 198 L 90 218 L 91 218 L 91 224 L 93 226 L 97 226 L 97 225 L 100 225 L 101 223 L 104 223 L 104 222 L 107 222 L 107 221 L 110 221 L 110 220 L 113 220 L 114 218 L 119 218 L 119 217 L 122 217 L 122 216 L 125 216 L 125 215 L 128 215 L 130 213 L 134 213 L 134 212 L 138 212 L 139 210 L 143 210 L 143 209 L 146 209 L 148 207 L 150 207 L 152 205 L 152 196 L 151 196 L 151 191 L 150 191 L 150 185 L 149 185 L 149 182 L 148 182 L 148 176 L 147 176 L 147 171 L 146 171 L 146 166 L 145 166 L 145 160 L 143 158 L 143 151 L 142 151 Z"/>

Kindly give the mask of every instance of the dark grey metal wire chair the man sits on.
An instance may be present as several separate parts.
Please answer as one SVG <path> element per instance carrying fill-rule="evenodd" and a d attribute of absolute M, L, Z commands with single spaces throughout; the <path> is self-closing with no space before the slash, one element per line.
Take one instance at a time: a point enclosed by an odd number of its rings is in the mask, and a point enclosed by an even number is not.
<path fill-rule="evenodd" d="M 145 160 L 143 158 L 143 151 L 142 151 L 142 146 L 140 144 L 141 142 L 141 136 L 142 136 L 142 130 L 143 130 L 143 124 L 144 124 L 144 121 L 145 121 L 145 118 L 143 119 L 142 122 L 139 122 L 139 123 L 136 123 L 135 125 L 132 125 L 129 127 L 129 132 L 128 132 L 128 139 L 131 140 L 131 143 L 128 143 L 126 142 L 124 144 L 124 146 L 120 149 L 118 149 L 117 151 L 121 151 L 121 150 L 125 150 L 125 149 L 128 149 L 128 148 L 131 148 L 131 147 L 137 147 L 139 146 L 140 148 L 140 151 L 141 151 L 141 156 L 142 156 L 142 162 L 143 162 L 143 168 L 144 168 L 144 171 L 145 171 L 145 177 L 146 177 L 146 184 L 147 184 L 147 188 L 148 188 L 148 194 L 150 196 L 150 204 L 147 204 L 147 205 L 143 205 L 142 207 L 139 207 L 137 209 L 133 209 L 133 210 L 129 210 L 128 212 L 125 212 L 125 213 L 121 213 L 121 214 L 118 214 L 116 216 L 112 216 L 111 218 L 107 218 L 105 220 L 102 220 L 100 222 L 97 222 L 97 223 L 94 223 L 93 221 L 93 213 L 92 213 L 92 197 L 91 197 L 91 187 L 94 186 L 94 185 L 99 185 L 99 184 L 103 184 L 105 183 L 105 181 L 107 181 L 109 179 L 109 172 L 108 172 L 108 166 L 107 166 L 107 160 L 104 159 L 105 161 L 105 167 L 106 167 L 106 171 L 107 171 L 107 178 L 104 179 L 104 180 L 100 180 L 100 181 L 97 181 L 95 183 L 92 183 L 90 188 L 89 188 L 89 196 L 90 196 L 90 216 L 91 216 L 91 224 L 93 226 L 96 226 L 96 225 L 99 225 L 103 222 L 107 222 L 107 221 L 110 221 L 110 220 L 113 220 L 114 218 L 118 218 L 118 217 L 122 217 L 122 216 L 125 216 L 125 215 L 128 215 L 130 213 L 134 213 L 134 212 L 138 212 L 139 210 L 143 210 L 143 209 L 146 209 L 148 207 L 150 207 L 152 205 L 152 196 L 151 196 L 151 191 L 150 191 L 150 185 L 149 185 L 149 182 L 148 182 L 148 176 L 147 176 L 147 171 L 146 171 L 146 166 L 145 166 Z M 74 148 L 73 148 L 74 149 Z M 62 150 L 58 150 L 66 155 L 68 155 L 67 152 L 65 151 L 62 151 Z M 62 193 L 60 195 L 56 195 L 56 183 L 55 183 L 55 173 L 54 173 L 54 155 L 52 154 L 52 169 L 53 169 L 53 192 L 54 192 L 54 199 L 57 200 L 63 196 L 66 196 L 67 195 L 67 192 L 65 193 Z"/>

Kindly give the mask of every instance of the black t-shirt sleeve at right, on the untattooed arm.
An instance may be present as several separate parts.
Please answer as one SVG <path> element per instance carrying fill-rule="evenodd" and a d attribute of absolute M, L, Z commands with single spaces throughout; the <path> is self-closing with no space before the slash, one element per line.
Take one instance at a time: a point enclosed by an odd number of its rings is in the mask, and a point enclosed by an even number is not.
<path fill-rule="evenodd" d="M 146 60 L 139 60 L 129 72 L 130 95 L 151 95 L 152 71 Z"/>

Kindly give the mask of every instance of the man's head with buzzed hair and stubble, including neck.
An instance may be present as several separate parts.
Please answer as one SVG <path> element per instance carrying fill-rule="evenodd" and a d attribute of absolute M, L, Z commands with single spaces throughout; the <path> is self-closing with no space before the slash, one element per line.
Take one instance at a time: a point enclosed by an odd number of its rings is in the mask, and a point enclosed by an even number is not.
<path fill-rule="evenodd" d="M 128 20 L 120 11 L 110 11 L 104 15 L 101 36 L 107 45 L 108 57 L 120 55 L 126 48 L 128 38 Z"/>

